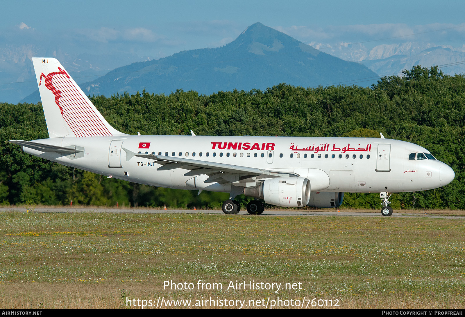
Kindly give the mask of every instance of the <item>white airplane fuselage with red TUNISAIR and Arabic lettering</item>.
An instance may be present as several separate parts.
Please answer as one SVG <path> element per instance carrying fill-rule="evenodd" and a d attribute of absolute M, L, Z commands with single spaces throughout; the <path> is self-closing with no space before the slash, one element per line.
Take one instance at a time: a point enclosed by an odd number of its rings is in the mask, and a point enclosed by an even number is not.
<path fill-rule="evenodd" d="M 83 152 L 60 155 L 26 147 L 24 151 L 93 173 L 166 188 L 230 192 L 231 184 L 204 183 L 206 175 L 185 175 L 189 169 L 182 164 L 180 168 L 158 170 L 162 165 L 156 160 L 129 157 L 125 149 L 295 173 L 310 180 L 312 191 L 410 192 L 444 186 L 454 177 L 452 169 L 438 160 L 409 160 L 412 153 L 429 153 L 425 148 L 381 138 L 93 136 L 36 142 L 76 146 Z"/>

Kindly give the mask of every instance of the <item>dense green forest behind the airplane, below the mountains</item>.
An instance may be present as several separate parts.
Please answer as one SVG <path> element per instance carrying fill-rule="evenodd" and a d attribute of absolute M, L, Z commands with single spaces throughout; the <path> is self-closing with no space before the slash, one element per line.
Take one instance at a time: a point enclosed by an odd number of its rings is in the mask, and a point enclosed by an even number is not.
<path fill-rule="evenodd" d="M 429 149 L 456 177 L 443 188 L 399 193 L 394 209 L 465 209 L 465 77 L 414 66 L 372 87 L 294 87 L 169 95 L 146 91 L 90 97 L 114 128 L 146 135 L 363 136 Z M 155 188 L 49 162 L 7 140 L 48 138 L 41 104 L 1 104 L 0 204 L 220 207 L 225 193 Z M 239 202 L 248 197 L 239 196 Z M 379 194 L 344 195 L 343 208 L 381 207 Z"/>

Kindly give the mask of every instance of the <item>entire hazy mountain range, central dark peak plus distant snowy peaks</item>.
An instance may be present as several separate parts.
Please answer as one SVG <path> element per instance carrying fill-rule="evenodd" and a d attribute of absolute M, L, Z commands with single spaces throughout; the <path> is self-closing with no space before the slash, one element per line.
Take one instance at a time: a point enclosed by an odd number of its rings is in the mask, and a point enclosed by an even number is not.
<path fill-rule="evenodd" d="M 401 75 L 402 70 L 413 65 L 443 65 L 441 70 L 451 75 L 465 72 L 465 45 L 453 48 L 406 42 L 369 49 L 363 44 L 310 44 L 256 23 L 222 47 L 183 51 L 157 60 L 127 52 L 73 56 L 58 45 L 6 45 L 0 47 L 0 101 L 40 100 L 32 56 L 58 58 L 86 93 L 106 96 L 143 89 L 166 94 L 176 89 L 193 89 L 204 94 L 233 89 L 263 90 L 281 82 L 304 87 L 369 86 L 376 82 L 377 74 Z M 115 66 L 122 67 L 115 69 Z M 101 75 L 104 76 L 99 78 Z"/>

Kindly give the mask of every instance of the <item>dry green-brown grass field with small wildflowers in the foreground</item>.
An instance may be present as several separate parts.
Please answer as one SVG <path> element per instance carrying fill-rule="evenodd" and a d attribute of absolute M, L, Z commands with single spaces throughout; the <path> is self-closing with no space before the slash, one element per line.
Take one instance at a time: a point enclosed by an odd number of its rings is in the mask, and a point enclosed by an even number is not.
<path fill-rule="evenodd" d="M 464 308 L 464 229 L 462 217 L 2 212 L 0 307 L 279 296 L 309 308 Z M 198 290 L 200 279 L 223 288 Z M 236 280 L 302 289 L 228 290 Z"/>

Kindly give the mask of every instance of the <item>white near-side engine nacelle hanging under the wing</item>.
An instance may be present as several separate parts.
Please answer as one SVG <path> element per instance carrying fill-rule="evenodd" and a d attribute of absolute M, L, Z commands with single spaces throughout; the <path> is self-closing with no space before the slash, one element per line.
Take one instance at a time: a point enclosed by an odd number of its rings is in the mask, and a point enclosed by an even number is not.
<path fill-rule="evenodd" d="M 245 188 L 246 196 L 281 207 L 302 207 L 310 201 L 310 180 L 305 177 L 275 177 L 260 185 Z"/>

